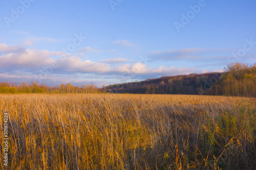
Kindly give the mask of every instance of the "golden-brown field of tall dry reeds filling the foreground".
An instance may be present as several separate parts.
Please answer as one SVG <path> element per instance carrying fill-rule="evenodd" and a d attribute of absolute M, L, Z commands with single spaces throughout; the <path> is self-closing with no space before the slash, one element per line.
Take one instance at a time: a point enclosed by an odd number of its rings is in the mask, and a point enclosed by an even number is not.
<path fill-rule="evenodd" d="M 0 169 L 256 167 L 253 98 L 1 94 L 0 111 Z"/>

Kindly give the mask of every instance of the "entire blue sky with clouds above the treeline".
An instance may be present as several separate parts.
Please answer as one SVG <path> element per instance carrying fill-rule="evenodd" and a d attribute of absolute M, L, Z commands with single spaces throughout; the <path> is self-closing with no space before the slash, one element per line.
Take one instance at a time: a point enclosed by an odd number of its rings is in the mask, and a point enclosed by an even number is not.
<path fill-rule="evenodd" d="M 20 0 L 0 6 L 0 82 L 102 85 L 256 63 L 256 1 Z"/>

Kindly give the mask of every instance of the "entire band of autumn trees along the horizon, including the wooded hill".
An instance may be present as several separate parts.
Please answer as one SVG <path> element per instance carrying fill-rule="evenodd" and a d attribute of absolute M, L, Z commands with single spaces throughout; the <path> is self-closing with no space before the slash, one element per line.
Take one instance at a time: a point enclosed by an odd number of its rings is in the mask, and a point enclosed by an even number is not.
<path fill-rule="evenodd" d="M 133 93 L 133 94 L 205 94 L 256 96 L 256 63 L 249 66 L 232 63 L 224 72 L 165 76 L 141 82 L 121 83 L 97 88 L 95 85 L 74 86 L 71 83 L 47 86 L 37 82 L 0 83 L 0 93 Z"/>

